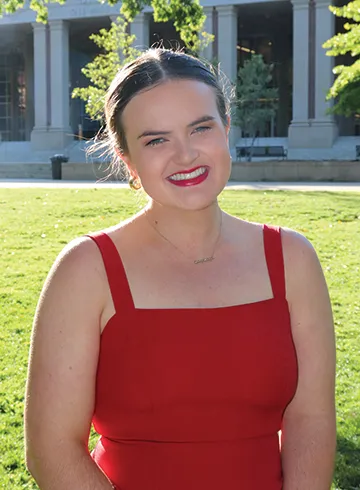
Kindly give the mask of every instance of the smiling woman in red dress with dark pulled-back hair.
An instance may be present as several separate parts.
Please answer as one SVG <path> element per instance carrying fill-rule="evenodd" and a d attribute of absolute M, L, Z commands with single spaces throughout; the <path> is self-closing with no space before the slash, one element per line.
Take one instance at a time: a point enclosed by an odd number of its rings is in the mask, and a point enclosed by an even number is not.
<path fill-rule="evenodd" d="M 119 72 L 105 113 L 149 203 L 72 242 L 44 286 L 25 414 L 39 487 L 329 489 L 324 277 L 299 234 L 219 208 L 231 158 L 217 79 L 149 50 Z M 89 454 L 91 423 L 101 437 Z"/>

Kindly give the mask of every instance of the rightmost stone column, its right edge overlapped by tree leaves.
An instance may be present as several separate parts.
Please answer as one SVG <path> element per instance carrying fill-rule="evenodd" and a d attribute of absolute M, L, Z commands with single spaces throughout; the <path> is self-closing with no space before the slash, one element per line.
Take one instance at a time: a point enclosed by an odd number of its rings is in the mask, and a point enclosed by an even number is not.
<path fill-rule="evenodd" d="M 315 118 L 312 136 L 313 145 L 319 148 L 331 148 L 338 134 L 334 117 L 326 113 L 332 105 L 326 100 L 326 95 L 334 80 L 334 57 L 326 56 L 326 50 L 322 47 L 335 33 L 335 16 L 329 10 L 330 4 L 329 0 L 316 2 Z"/>

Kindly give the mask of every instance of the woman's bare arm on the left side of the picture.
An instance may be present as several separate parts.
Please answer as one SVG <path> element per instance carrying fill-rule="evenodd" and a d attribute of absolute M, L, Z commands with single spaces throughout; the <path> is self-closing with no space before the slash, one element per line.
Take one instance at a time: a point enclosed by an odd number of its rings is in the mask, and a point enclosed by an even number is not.
<path fill-rule="evenodd" d="M 96 245 L 67 247 L 44 285 L 32 334 L 26 463 L 41 490 L 110 490 L 88 438 L 95 399 L 105 273 Z"/>

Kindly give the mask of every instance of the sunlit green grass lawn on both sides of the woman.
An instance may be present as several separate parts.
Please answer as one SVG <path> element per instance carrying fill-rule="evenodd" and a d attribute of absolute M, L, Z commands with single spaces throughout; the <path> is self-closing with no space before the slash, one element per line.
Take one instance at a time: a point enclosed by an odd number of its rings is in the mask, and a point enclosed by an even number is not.
<path fill-rule="evenodd" d="M 318 251 L 337 335 L 334 488 L 360 489 L 360 194 L 229 190 L 220 202 L 242 218 L 294 228 Z M 23 401 L 32 317 L 48 270 L 71 239 L 140 207 L 124 189 L 0 189 L 0 488 L 37 488 L 24 465 Z"/>

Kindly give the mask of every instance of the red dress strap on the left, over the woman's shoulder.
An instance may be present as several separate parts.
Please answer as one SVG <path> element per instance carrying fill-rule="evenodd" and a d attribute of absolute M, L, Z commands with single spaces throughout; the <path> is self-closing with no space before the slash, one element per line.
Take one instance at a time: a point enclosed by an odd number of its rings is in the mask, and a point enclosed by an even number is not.
<path fill-rule="evenodd" d="M 134 308 L 124 265 L 114 242 L 103 231 L 86 236 L 96 243 L 101 252 L 116 313 L 128 307 Z"/>

